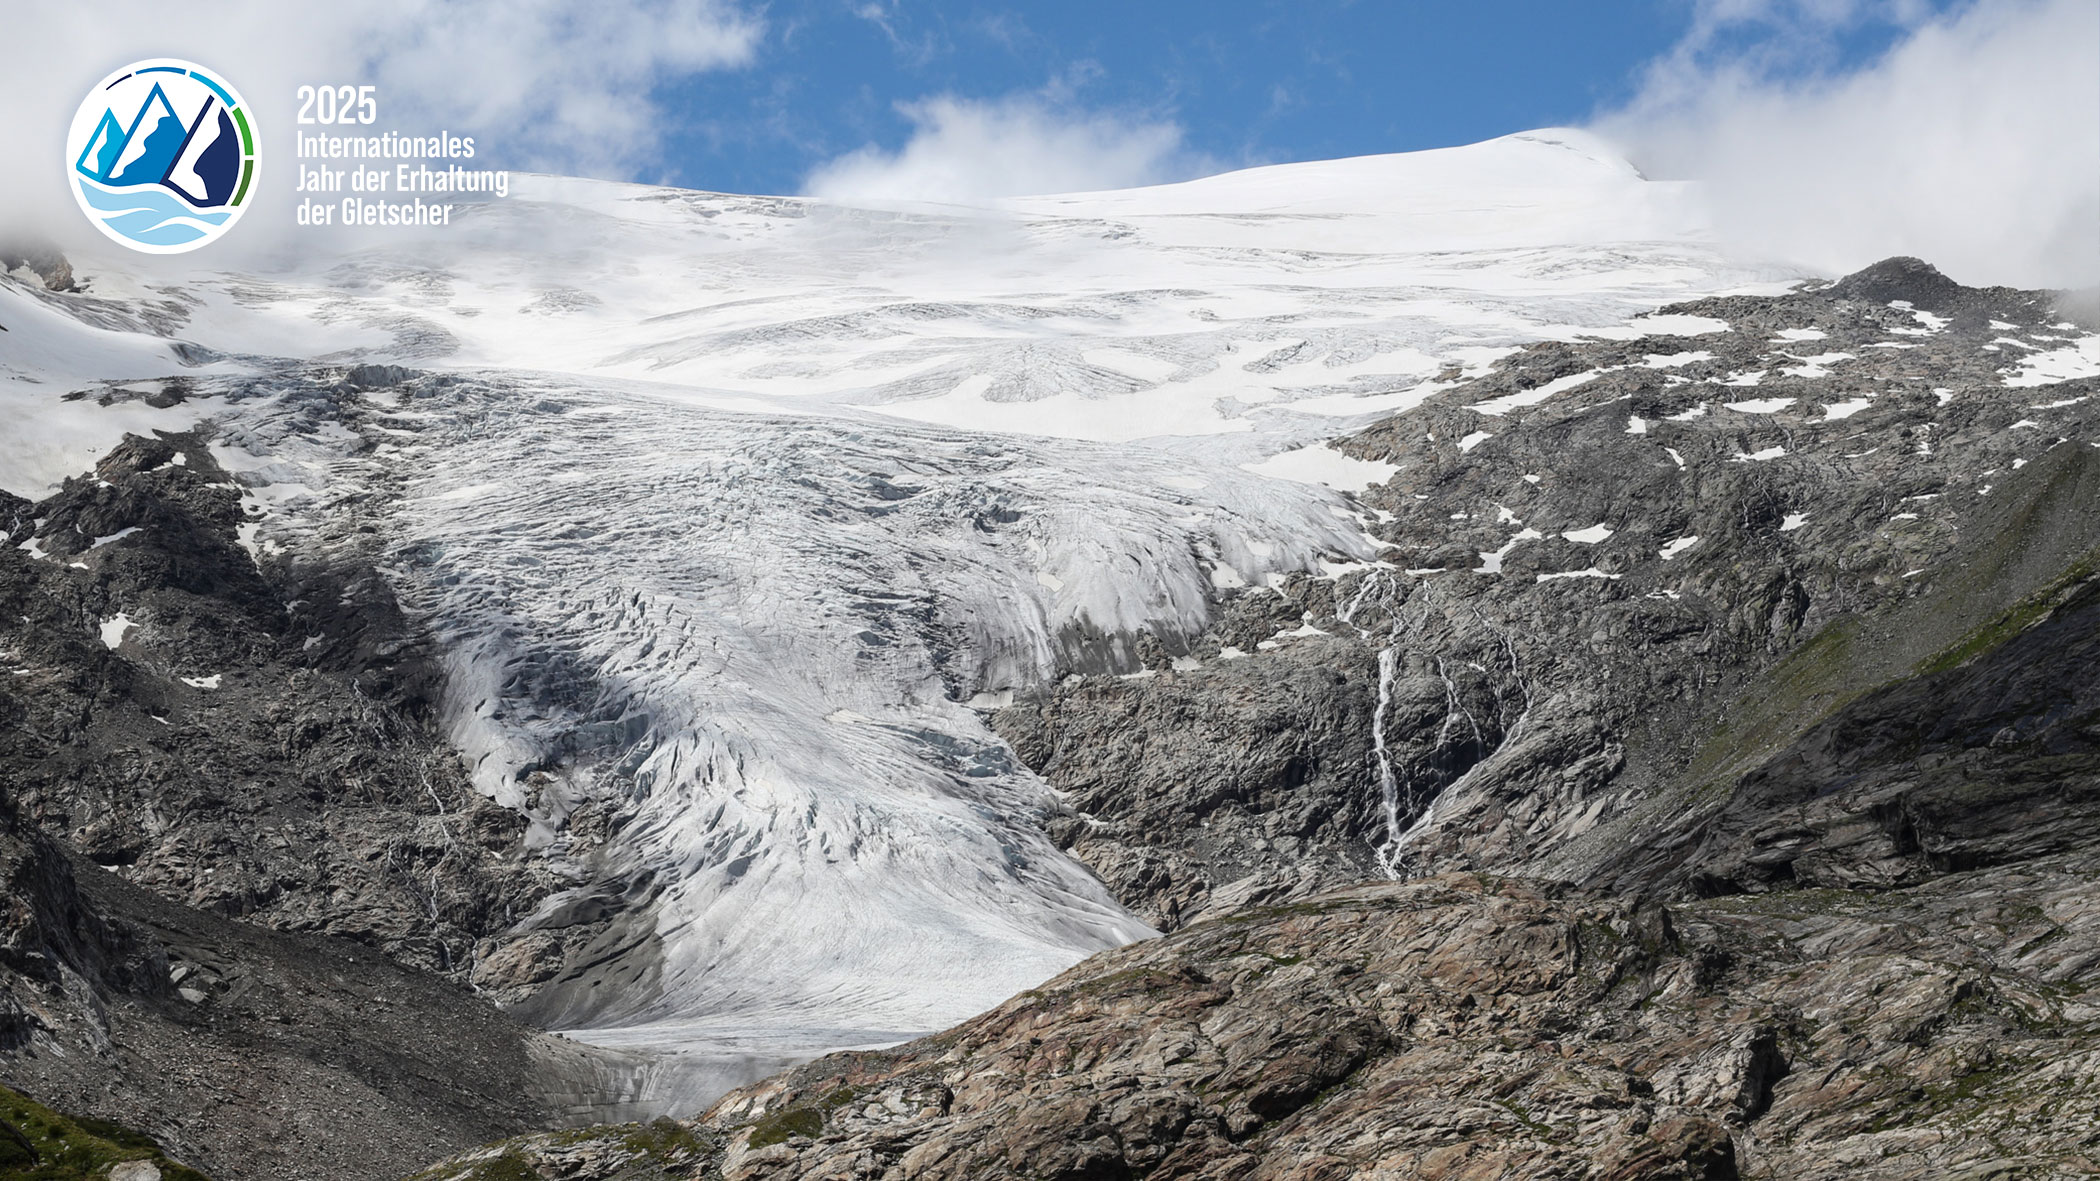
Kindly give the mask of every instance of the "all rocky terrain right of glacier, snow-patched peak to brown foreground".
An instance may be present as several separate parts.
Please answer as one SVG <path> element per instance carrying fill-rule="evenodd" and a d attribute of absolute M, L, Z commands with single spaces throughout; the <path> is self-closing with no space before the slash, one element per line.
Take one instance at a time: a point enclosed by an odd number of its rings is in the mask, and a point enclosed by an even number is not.
<path fill-rule="evenodd" d="M 1663 315 L 1342 441 L 1382 565 L 998 719 L 1178 931 L 422 1177 L 2100 1168 L 2100 338 L 1913 261 Z"/>

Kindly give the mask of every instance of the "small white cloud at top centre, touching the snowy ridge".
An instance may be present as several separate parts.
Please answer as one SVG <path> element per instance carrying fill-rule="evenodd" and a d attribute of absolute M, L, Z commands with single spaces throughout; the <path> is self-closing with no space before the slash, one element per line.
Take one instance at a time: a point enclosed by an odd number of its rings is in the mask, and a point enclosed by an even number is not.
<path fill-rule="evenodd" d="M 1157 185 L 1216 172 L 1168 120 L 1084 111 L 1046 95 L 998 101 L 951 95 L 905 103 L 911 139 L 861 147 L 811 172 L 804 191 L 832 200 L 979 202 Z"/>

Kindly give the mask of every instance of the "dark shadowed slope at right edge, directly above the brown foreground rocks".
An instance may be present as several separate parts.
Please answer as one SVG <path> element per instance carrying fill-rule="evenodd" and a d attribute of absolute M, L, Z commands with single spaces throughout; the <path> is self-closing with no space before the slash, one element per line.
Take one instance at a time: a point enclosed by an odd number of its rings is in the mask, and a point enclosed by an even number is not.
<path fill-rule="evenodd" d="M 2100 847 L 2096 670 L 2100 572 L 2087 557 L 1919 675 L 1800 729 L 1712 817 L 1674 826 L 1697 845 L 1672 880 L 1701 893 L 1882 887 Z"/>

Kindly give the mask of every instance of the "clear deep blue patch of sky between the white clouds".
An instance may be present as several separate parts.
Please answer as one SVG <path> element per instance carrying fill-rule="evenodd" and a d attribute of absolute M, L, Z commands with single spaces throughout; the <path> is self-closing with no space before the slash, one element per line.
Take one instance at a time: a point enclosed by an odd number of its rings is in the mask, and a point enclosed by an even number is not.
<path fill-rule="evenodd" d="M 1586 122 L 1716 4 L 1690 0 L 775 0 L 746 63 L 666 80 L 638 179 L 794 193 L 842 153 L 903 147 L 930 99 L 1023 97 L 1180 132 L 1176 172 L 1472 143 Z M 1728 8 L 1720 4 L 1720 8 Z M 1932 4 L 1846 4 L 1808 36 L 1737 4 L 1714 53 L 1842 71 Z M 1770 11 L 1770 19 L 1758 19 Z M 1877 19 L 1886 17 L 1886 19 Z M 1806 53 L 1802 46 L 1810 46 Z"/>

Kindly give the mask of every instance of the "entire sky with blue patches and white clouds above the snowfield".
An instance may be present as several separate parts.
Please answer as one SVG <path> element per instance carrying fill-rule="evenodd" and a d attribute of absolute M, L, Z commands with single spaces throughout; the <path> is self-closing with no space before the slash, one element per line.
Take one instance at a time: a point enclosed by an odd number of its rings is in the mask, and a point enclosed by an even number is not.
<path fill-rule="evenodd" d="M 0 0 L 0 29 L 44 46 L 0 71 L 10 160 L 164 55 L 233 78 L 273 151 L 300 84 L 359 82 L 498 168 L 855 202 L 1577 124 L 1758 256 L 2100 282 L 2100 0 Z M 71 204 L 61 166 L 0 170 L 17 216 Z"/>

